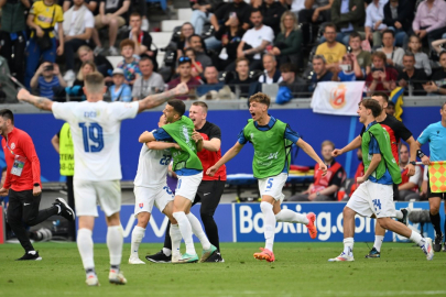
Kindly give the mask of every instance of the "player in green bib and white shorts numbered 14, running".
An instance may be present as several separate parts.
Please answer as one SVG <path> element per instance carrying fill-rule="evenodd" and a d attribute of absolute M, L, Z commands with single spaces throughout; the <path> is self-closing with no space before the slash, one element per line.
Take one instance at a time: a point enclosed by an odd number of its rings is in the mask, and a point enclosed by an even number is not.
<path fill-rule="evenodd" d="M 359 103 L 359 121 L 366 127 L 361 139 L 365 175 L 358 177 L 357 183 L 360 186 L 344 208 L 344 251 L 339 256 L 329 258 L 329 262 L 355 261 L 353 235 L 357 213 L 377 218 L 382 228 L 415 242 L 426 254 L 427 260 L 434 257 L 432 239 L 424 239 L 407 226 L 392 219 L 395 216 L 392 185 L 401 183 L 401 173 L 392 154 L 389 133 L 377 122 L 381 112 L 382 108 L 377 100 L 365 99 Z"/>

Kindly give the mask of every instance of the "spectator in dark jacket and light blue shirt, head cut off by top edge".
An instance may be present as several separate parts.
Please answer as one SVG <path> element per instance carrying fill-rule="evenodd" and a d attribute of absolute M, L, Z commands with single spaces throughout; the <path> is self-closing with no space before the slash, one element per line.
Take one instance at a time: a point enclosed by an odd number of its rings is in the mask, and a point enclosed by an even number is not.
<path fill-rule="evenodd" d="M 350 33 L 365 31 L 366 9 L 363 1 L 334 0 L 331 4 L 331 22 L 338 31 L 336 40 L 348 45 Z"/>

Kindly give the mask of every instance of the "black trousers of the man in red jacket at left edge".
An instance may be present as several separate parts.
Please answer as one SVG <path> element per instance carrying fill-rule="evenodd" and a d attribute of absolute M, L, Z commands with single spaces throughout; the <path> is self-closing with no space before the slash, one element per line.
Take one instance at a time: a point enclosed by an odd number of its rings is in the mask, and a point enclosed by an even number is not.
<path fill-rule="evenodd" d="M 30 242 L 24 224 L 35 226 L 51 216 L 57 215 L 58 211 L 55 206 L 39 211 L 41 197 L 42 195 L 33 196 L 32 190 L 9 190 L 7 220 L 26 252 L 34 251 L 34 248 Z"/>

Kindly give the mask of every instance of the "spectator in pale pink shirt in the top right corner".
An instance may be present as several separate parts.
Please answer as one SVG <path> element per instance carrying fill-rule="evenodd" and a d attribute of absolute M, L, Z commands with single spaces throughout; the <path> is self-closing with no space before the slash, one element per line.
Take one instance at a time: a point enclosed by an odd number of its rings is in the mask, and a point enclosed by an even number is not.
<path fill-rule="evenodd" d="M 412 23 L 413 32 L 423 41 L 427 38 L 428 46 L 442 37 L 446 31 L 446 2 L 443 0 L 424 0 L 416 9 Z"/>

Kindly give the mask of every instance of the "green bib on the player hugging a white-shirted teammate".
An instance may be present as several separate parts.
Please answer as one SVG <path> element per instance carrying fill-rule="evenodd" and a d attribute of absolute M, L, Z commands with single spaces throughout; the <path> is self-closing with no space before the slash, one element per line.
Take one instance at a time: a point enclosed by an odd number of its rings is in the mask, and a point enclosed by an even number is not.
<path fill-rule="evenodd" d="M 203 170 L 202 162 L 197 156 L 197 145 L 192 139 L 194 122 L 182 117 L 178 121 L 163 125 L 165 132 L 182 147 L 182 150 L 171 148 L 174 172 L 187 168 Z"/>

